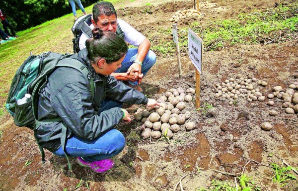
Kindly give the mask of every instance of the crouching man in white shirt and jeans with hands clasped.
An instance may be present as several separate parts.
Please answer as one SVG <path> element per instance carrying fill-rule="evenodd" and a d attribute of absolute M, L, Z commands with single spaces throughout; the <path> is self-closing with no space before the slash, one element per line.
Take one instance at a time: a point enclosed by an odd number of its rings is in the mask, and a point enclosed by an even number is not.
<path fill-rule="evenodd" d="M 113 4 L 107 1 L 100 1 L 93 5 L 91 22 L 90 29 L 100 27 L 103 31 L 115 33 L 117 29 L 120 29 L 124 40 L 137 47 L 128 49 L 125 59 L 121 63 L 122 67 L 111 75 L 135 90 L 143 92 L 139 84 L 156 61 L 156 55 L 149 50 L 151 46 L 149 40 L 124 20 L 118 19 Z M 86 47 L 87 39 L 85 34 L 80 36 L 80 50 Z"/>

